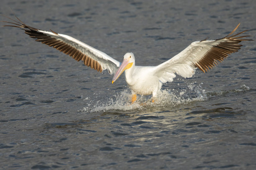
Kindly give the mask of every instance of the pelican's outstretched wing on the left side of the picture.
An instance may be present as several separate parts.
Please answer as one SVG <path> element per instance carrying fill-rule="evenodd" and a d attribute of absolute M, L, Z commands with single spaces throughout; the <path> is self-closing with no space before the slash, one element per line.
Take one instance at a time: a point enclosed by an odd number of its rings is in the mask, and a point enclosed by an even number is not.
<path fill-rule="evenodd" d="M 36 41 L 42 42 L 46 45 L 49 45 L 50 47 L 54 47 L 57 50 L 73 57 L 77 61 L 82 60 L 84 61 L 84 65 L 87 65 L 92 69 L 100 72 L 107 69 L 110 74 L 113 74 L 118 70 L 118 67 L 120 66 L 119 61 L 73 37 L 64 34 L 58 34 L 52 30 L 51 32 L 39 30 L 37 28 L 26 25 L 20 20 L 13 21 L 15 23 L 11 23 L 8 21 L 2 22 L 14 24 L 4 26 L 17 27 L 25 30 L 25 33 L 28 34 L 31 38 L 36 38 Z"/>

